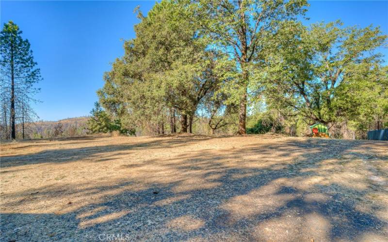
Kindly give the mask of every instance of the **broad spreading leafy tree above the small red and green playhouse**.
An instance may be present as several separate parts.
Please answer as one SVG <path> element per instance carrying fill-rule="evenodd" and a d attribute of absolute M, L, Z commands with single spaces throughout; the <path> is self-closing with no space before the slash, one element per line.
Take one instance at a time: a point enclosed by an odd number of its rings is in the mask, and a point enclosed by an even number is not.
<path fill-rule="evenodd" d="M 387 75 L 374 50 L 386 38 L 379 28 L 284 22 L 268 47 L 265 71 L 255 75 L 256 85 L 265 87 L 270 106 L 309 124 L 372 116 L 367 114 L 372 106 L 382 113 Z"/>

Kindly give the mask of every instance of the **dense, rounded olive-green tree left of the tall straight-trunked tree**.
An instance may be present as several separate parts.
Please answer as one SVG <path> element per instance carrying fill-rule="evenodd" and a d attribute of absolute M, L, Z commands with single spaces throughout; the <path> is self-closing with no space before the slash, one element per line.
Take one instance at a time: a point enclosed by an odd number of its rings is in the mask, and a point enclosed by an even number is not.
<path fill-rule="evenodd" d="M 208 48 L 187 11 L 163 0 L 146 17 L 138 13 L 136 38 L 125 42 L 124 57 L 97 92 L 110 115 L 156 132 L 175 111 L 193 120 L 204 97 L 218 87 L 215 69 L 222 56 Z"/>

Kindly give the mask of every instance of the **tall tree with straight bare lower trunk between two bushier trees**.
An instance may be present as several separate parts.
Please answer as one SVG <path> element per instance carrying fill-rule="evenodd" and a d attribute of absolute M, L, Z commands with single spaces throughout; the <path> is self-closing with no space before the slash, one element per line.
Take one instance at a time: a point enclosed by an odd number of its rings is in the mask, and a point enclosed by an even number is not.
<path fill-rule="evenodd" d="M 246 106 L 261 88 L 252 88 L 252 67 L 263 62 L 263 50 L 276 38 L 280 23 L 304 15 L 306 0 L 200 0 L 190 1 L 203 34 L 210 37 L 213 45 L 229 57 L 223 73 L 220 91 L 227 93 L 226 104 L 238 104 L 239 134 L 245 134 Z M 230 70 L 230 71 L 229 71 Z M 248 104 L 249 105 L 249 104 Z"/>

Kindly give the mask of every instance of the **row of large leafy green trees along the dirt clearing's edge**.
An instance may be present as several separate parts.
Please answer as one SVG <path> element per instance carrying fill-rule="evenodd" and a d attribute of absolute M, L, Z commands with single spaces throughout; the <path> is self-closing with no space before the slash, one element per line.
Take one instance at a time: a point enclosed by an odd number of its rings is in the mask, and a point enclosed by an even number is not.
<path fill-rule="evenodd" d="M 162 0 L 146 16 L 137 8 L 136 37 L 104 75 L 99 104 L 148 134 L 387 127 L 388 68 L 376 51 L 387 35 L 340 21 L 305 26 L 307 10 L 306 0 Z M 256 121 L 248 130 L 247 120 Z"/>

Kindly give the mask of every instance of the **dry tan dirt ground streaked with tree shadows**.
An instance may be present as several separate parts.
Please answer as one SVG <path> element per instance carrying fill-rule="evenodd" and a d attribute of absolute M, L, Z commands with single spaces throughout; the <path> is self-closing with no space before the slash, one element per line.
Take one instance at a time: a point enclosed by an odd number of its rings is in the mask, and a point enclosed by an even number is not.
<path fill-rule="evenodd" d="M 388 142 L 83 137 L 1 144 L 1 241 L 387 241 Z"/>

